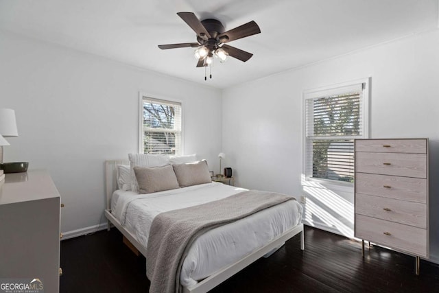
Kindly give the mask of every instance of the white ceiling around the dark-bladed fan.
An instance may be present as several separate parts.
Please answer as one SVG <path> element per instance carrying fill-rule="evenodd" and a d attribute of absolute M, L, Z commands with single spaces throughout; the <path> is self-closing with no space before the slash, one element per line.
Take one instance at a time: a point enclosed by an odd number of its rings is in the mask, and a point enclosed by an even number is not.
<path fill-rule="evenodd" d="M 228 43 L 254 56 L 195 68 L 195 42 L 176 12 L 261 34 Z M 0 0 L 0 30 L 16 32 L 220 89 L 438 28 L 438 0 Z"/>

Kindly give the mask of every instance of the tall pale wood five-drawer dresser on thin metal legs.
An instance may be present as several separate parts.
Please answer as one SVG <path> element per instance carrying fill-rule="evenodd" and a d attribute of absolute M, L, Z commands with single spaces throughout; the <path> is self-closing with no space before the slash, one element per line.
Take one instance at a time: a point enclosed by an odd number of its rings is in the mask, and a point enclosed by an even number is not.
<path fill-rule="evenodd" d="M 355 140 L 355 237 L 429 256 L 428 139 Z"/>

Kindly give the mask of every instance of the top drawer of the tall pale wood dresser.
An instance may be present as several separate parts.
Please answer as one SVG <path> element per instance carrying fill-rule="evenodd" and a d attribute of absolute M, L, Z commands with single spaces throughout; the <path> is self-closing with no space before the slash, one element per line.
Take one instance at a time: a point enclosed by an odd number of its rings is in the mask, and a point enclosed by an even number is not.
<path fill-rule="evenodd" d="M 427 139 L 355 140 L 355 152 L 403 152 L 425 154 Z"/>

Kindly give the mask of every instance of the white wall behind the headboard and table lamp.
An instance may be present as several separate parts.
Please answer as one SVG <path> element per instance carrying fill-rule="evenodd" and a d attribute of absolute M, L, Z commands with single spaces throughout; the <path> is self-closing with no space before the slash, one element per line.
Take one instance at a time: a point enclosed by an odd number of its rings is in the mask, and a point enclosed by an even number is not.
<path fill-rule="evenodd" d="M 138 152 L 139 91 L 180 99 L 185 153 L 217 169 L 221 91 L 0 32 L 0 108 L 16 111 L 19 128 L 4 161 L 49 170 L 62 231 L 106 222 L 104 161 Z"/>

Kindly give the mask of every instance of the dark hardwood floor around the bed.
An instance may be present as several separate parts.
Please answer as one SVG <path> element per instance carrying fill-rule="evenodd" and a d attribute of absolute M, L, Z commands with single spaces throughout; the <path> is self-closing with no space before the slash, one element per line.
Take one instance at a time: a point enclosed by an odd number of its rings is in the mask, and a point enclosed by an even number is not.
<path fill-rule="evenodd" d="M 61 242 L 60 292 L 147 292 L 145 258 L 122 243 L 117 229 Z M 211 292 L 439 292 L 439 266 L 305 227 L 271 257 L 252 263 Z"/>

